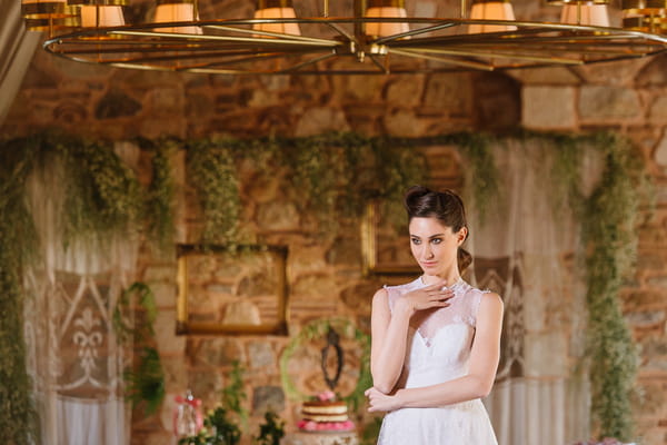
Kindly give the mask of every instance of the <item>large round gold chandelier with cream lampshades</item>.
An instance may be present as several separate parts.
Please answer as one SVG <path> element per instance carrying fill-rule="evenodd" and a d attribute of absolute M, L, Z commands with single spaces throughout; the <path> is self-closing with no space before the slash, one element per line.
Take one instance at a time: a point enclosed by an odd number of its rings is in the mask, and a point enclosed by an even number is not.
<path fill-rule="evenodd" d="M 259 0 L 252 18 L 200 18 L 197 0 L 157 0 L 150 22 L 126 23 L 128 0 L 23 0 L 43 48 L 76 61 L 203 73 L 378 75 L 575 66 L 667 52 L 667 0 L 547 0 L 559 22 L 521 21 L 508 0 L 466 0 L 448 18 L 409 17 L 405 0 L 354 0 L 346 17 L 300 17 L 291 0 Z M 620 23 L 619 23 L 620 24 Z"/>

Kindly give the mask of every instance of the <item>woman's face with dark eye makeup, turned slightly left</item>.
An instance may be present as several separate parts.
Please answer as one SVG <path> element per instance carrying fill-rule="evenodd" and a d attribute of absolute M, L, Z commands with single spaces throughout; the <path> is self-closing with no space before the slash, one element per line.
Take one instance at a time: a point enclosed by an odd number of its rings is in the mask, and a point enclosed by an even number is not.
<path fill-rule="evenodd" d="M 454 233 L 437 218 L 412 218 L 408 226 L 412 256 L 426 275 L 444 277 L 457 267 L 457 249 L 467 229 Z"/>

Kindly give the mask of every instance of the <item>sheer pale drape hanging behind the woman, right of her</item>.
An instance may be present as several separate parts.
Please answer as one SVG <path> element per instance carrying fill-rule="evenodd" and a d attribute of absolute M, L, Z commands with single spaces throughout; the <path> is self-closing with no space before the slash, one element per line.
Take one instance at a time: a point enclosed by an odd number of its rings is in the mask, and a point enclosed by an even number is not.
<path fill-rule="evenodd" d="M 485 400 L 500 445 L 588 437 L 589 390 L 577 366 L 586 314 L 578 230 L 569 211 L 555 211 L 548 151 L 537 144 L 495 147 L 499 199 L 484 225 L 475 209 L 470 217 L 471 280 L 505 301 L 498 380 Z"/>

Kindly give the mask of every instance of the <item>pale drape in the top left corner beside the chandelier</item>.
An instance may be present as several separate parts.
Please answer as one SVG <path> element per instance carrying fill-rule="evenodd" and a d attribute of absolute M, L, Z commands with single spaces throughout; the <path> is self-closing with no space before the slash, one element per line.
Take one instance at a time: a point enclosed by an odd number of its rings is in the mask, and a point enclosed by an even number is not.
<path fill-rule="evenodd" d="M 41 33 L 28 32 L 19 0 L 0 0 L 0 126 L 9 112 Z"/>

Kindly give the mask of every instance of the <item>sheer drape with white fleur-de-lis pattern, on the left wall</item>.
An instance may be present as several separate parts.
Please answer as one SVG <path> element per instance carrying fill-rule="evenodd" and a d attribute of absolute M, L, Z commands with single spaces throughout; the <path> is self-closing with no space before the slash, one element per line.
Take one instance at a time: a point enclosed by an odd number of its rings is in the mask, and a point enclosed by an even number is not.
<path fill-rule="evenodd" d="M 43 261 L 24 274 L 24 329 L 42 444 L 127 444 L 122 372 L 130 357 L 118 345 L 112 314 L 133 279 L 137 245 L 73 240 L 66 248 L 57 171 L 56 166 L 29 184 Z"/>

